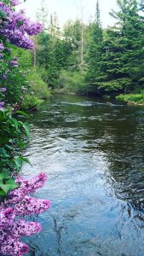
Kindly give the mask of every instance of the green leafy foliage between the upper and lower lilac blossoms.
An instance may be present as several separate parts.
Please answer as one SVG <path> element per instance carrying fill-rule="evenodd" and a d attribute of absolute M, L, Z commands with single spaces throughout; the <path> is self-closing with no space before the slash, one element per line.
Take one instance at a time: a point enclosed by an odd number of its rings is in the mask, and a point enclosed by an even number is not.
<path fill-rule="evenodd" d="M 14 119 L 10 108 L 0 109 L 0 196 L 18 187 L 11 176 L 29 162 L 19 153 L 26 146 L 23 137 L 29 138 L 29 125 Z"/>

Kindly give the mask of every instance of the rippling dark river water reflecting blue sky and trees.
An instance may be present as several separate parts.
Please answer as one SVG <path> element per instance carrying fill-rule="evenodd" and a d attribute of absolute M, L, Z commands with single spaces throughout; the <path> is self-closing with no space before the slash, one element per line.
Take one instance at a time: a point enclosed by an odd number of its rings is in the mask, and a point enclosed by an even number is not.
<path fill-rule="evenodd" d="M 50 199 L 37 256 L 144 255 L 144 108 L 56 96 L 32 114 L 31 166 Z"/>

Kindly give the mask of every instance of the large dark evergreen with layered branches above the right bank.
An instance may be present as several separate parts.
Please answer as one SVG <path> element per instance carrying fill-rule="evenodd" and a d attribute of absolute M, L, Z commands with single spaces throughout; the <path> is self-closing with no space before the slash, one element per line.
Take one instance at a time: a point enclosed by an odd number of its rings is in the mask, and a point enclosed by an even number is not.
<path fill-rule="evenodd" d="M 99 88 L 130 92 L 142 88 L 144 68 L 144 22 L 136 0 L 118 0 L 118 20 L 107 30 L 101 55 Z"/>

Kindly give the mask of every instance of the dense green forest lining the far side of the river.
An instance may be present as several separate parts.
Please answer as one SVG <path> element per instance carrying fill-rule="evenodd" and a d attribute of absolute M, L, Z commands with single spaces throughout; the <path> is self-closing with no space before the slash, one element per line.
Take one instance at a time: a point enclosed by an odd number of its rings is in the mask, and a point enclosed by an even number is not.
<path fill-rule="evenodd" d="M 67 20 L 60 28 L 57 15 L 49 17 L 43 1 L 37 10 L 37 20 L 44 29 L 34 38 L 34 50 L 13 51 L 19 56 L 20 68 L 26 72 L 33 91 L 33 96 L 26 96 L 24 105 L 38 103 L 37 98 L 43 99 L 53 92 L 118 96 L 142 103 L 143 13 L 142 1 L 118 1 L 118 11 L 112 10 L 110 14 L 115 25 L 103 28 L 97 1 L 95 20 L 87 24 L 83 20 Z M 14 95 L 16 99 L 20 97 Z"/>

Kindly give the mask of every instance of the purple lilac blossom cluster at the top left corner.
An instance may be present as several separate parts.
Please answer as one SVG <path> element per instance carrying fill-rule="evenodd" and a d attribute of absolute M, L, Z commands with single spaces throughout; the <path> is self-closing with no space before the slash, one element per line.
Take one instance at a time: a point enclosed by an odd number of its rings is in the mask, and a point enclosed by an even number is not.
<path fill-rule="evenodd" d="M 13 0 L 11 4 L 15 6 L 19 1 Z M 16 12 L 3 2 L 0 2 L 0 11 L 4 14 L 0 35 L 20 48 L 32 49 L 34 44 L 28 36 L 37 35 L 43 31 L 43 27 L 39 23 L 26 19 L 23 11 Z"/>

